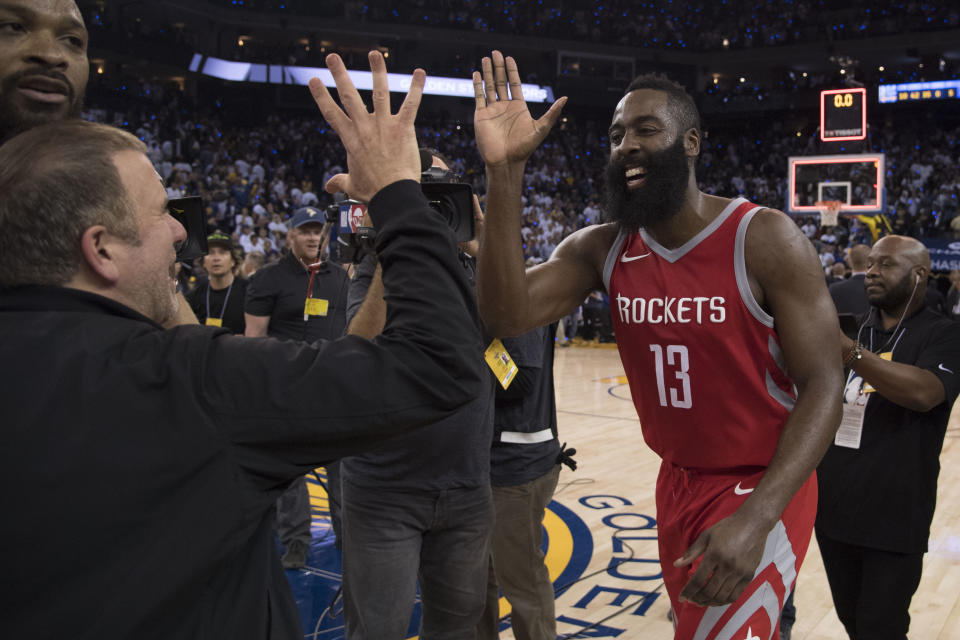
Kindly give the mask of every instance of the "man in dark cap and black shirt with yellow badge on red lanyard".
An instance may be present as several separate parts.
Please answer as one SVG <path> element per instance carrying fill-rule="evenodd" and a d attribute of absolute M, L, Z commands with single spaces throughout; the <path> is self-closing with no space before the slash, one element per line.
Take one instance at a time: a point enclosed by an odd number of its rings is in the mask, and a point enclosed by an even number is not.
<path fill-rule="evenodd" d="M 316 264 L 323 228 L 323 211 L 316 207 L 293 214 L 287 232 L 290 253 L 250 279 L 246 336 L 314 342 L 343 335 L 350 279 L 339 265 Z M 310 546 L 310 494 L 303 477 L 277 500 L 277 533 L 286 549 L 284 568 L 303 567 Z"/>

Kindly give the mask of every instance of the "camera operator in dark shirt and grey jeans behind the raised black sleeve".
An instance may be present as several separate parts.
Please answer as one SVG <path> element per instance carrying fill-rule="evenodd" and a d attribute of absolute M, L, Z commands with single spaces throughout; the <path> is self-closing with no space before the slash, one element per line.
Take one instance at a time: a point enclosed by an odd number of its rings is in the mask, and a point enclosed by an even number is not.
<path fill-rule="evenodd" d="M 423 151 L 421 151 L 423 153 Z M 425 154 L 427 175 L 449 173 Z M 426 178 L 425 178 L 426 179 Z M 349 192 L 348 192 L 349 193 Z M 351 194 L 353 195 L 353 194 Z M 473 201 L 476 210 L 479 204 Z M 469 207 L 464 217 L 469 221 Z M 438 220 L 438 224 L 443 224 Z M 380 229 L 376 229 L 379 237 Z M 474 259 L 460 252 L 472 279 Z M 376 259 L 350 285 L 350 330 L 380 332 L 395 300 L 382 292 Z M 482 362 L 479 346 L 468 356 Z M 404 638 L 420 579 L 420 637 L 470 638 L 483 613 L 493 513 L 490 441 L 493 394 L 480 395 L 417 433 L 340 462 L 346 638 Z"/>

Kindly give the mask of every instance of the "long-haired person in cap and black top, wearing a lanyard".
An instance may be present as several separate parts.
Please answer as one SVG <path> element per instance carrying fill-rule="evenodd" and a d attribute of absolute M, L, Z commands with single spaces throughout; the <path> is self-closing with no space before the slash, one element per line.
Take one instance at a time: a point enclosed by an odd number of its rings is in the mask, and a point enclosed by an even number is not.
<path fill-rule="evenodd" d="M 219 231 L 207 236 L 209 250 L 203 257 L 207 279 L 187 294 L 190 308 L 200 324 L 224 327 L 243 335 L 246 324 L 243 304 L 247 280 L 236 275 L 237 256 L 233 238 Z"/>

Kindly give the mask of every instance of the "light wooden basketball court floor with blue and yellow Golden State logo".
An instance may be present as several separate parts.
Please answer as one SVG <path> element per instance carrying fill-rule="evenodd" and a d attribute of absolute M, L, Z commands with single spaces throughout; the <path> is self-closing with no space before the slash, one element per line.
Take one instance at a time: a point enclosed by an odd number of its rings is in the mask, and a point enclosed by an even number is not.
<path fill-rule="evenodd" d="M 613 345 L 557 350 L 561 442 L 577 449 L 544 519 L 561 638 L 672 638 L 660 579 L 654 484 L 659 459 L 640 435 L 623 367 Z M 941 455 L 940 489 L 923 580 L 910 608 L 911 640 L 960 640 L 960 413 Z M 320 470 L 320 477 L 323 472 Z M 305 638 L 343 638 L 339 552 L 333 548 L 323 486 L 310 484 L 313 544 L 307 567 L 288 571 Z M 896 517 L 891 514 L 891 517 Z M 331 606 L 333 603 L 333 606 Z M 794 640 L 844 640 L 816 542 L 796 588 Z M 501 614 L 509 606 L 501 600 Z M 419 608 L 408 638 L 416 638 Z M 509 619 L 500 637 L 512 639 Z"/>

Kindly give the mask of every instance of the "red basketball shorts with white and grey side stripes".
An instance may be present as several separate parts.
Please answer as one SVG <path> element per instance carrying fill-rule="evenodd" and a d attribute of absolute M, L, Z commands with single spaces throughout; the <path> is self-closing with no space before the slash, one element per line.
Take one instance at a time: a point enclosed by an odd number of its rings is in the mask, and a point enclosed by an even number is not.
<path fill-rule="evenodd" d="M 667 462 L 657 478 L 660 566 L 673 606 L 675 640 L 778 639 L 780 611 L 807 553 L 817 513 L 816 474 L 800 488 L 767 536 L 753 581 L 736 602 L 699 607 L 679 602 L 680 591 L 700 566 L 674 567 L 697 537 L 731 515 L 749 497 L 766 469 L 713 472 Z"/>

